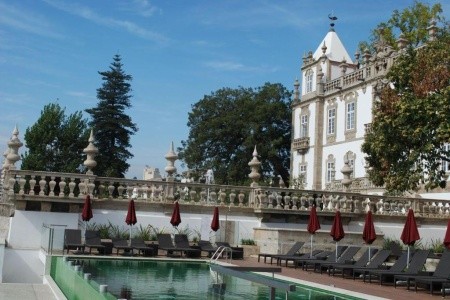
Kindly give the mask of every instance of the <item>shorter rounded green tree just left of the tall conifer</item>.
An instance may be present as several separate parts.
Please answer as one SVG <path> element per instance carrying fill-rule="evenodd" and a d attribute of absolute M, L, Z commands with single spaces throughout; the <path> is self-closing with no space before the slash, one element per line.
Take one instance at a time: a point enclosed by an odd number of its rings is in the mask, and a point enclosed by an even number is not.
<path fill-rule="evenodd" d="M 25 131 L 28 151 L 22 155 L 22 169 L 80 173 L 84 171 L 83 149 L 89 130 L 81 112 L 65 115 L 58 103 L 44 106 L 37 122 Z"/>

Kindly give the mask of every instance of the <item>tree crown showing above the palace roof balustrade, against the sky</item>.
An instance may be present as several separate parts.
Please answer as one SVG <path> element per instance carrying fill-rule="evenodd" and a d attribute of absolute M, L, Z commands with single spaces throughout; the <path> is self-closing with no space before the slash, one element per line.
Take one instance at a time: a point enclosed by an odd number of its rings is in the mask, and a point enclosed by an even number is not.
<path fill-rule="evenodd" d="M 397 48 L 396 40 L 403 35 L 403 38 L 412 47 L 418 47 L 425 43 L 428 38 L 428 26 L 430 21 L 434 19 L 436 22 L 443 21 L 441 16 L 442 6 L 436 3 L 432 6 L 414 1 L 411 7 L 405 8 L 403 11 L 394 10 L 392 16 L 386 22 L 381 22 L 372 30 L 370 42 L 360 42 L 359 49 L 364 52 L 369 49 L 372 53 L 375 51 L 375 43 L 380 39 Z"/>

